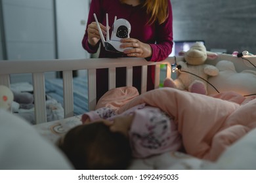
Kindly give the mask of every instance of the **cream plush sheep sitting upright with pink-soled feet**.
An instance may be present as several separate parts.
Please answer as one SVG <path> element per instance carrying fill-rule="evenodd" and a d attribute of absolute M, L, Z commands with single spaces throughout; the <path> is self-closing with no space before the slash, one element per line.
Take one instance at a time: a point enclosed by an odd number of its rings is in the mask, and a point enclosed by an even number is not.
<path fill-rule="evenodd" d="M 205 64 L 205 61 L 207 58 L 217 58 L 217 54 L 208 52 L 202 43 L 196 42 L 187 52 L 180 52 L 180 55 L 184 56 L 185 62 L 179 61 L 177 63 L 178 77 L 175 80 L 165 78 L 163 86 L 207 95 L 207 82 L 205 80 L 208 76 L 217 76 L 219 70 L 213 65 Z"/>

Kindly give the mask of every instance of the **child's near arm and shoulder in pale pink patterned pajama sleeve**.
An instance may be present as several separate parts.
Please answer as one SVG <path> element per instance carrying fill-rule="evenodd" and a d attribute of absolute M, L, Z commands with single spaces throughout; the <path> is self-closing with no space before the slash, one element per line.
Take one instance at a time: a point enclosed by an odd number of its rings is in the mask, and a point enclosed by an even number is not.
<path fill-rule="evenodd" d="M 181 148 L 181 137 L 173 119 L 159 108 L 137 110 L 129 131 L 133 156 L 146 158 Z"/>

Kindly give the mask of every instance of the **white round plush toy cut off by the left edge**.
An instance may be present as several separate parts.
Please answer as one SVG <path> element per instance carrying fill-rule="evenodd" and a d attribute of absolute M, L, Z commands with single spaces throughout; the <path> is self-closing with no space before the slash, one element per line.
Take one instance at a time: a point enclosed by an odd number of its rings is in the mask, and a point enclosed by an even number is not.
<path fill-rule="evenodd" d="M 12 91 L 7 86 L 0 85 L 0 108 L 11 110 L 12 101 Z"/>

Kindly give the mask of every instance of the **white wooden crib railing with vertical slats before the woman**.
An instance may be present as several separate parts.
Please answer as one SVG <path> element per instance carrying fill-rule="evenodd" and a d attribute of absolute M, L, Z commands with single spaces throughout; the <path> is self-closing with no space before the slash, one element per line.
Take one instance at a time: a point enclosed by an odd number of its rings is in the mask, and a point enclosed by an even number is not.
<path fill-rule="evenodd" d="M 178 58 L 182 59 L 182 58 Z M 142 58 L 100 58 L 100 59 L 52 59 L 52 60 L 2 60 L 0 61 L 0 85 L 11 86 L 11 75 L 32 73 L 33 95 L 35 106 L 35 122 L 47 122 L 45 105 L 46 72 L 63 71 L 64 117 L 74 116 L 73 76 L 72 71 L 87 69 L 88 106 L 93 110 L 96 106 L 96 69 L 108 68 L 108 89 L 116 87 L 116 68 L 126 67 L 126 85 L 133 84 L 133 66 L 141 66 L 141 93 L 146 92 L 148 65 L 156 65 L 155 88 L 160 86 L 160 65 L 166 65 L 166 76 L 171 77 L 171 64 L 175 58 L 167 58 L 160 62 L 150 62 Z"/>

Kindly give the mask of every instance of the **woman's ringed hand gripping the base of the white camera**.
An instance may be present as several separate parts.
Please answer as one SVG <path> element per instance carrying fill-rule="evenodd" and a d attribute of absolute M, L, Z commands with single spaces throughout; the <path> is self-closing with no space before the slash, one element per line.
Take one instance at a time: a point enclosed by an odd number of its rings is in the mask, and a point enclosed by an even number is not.
<path fill-rule="evenodd" d="M 121 39 L 120 48 L 127 48 L 124 54 L 130 57 L 148 58 L 152 56 L 152 48 L 149 44 L 140 42 L 138 39 L 125 38 Z"/>

